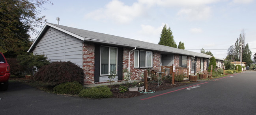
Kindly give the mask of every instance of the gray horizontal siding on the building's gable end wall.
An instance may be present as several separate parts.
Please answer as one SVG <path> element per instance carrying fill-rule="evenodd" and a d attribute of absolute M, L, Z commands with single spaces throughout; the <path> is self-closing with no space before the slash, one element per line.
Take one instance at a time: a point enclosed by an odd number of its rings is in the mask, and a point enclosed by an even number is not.
<path fill-rule="evenodd" d="M 45 54 L 51 62 L 71 61 L 82 68 L 82 40 L 50 27 L 34 47 L 34 54 Z"/>

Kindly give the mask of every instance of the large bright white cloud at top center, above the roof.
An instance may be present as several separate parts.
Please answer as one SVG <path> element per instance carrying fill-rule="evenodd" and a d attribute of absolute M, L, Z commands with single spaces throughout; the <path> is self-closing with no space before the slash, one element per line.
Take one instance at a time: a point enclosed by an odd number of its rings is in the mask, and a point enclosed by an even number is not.
<path fill-rule="evenodd" d="M 95 20 L 110 19 L 119 23 L 127 23 L 144 13 L 145 9 L 146 7 L 137 2 L 128 6 L 118 0 L 112 0 L 105 8 L 86 14 L 85 18 L 93 18 Z"/>

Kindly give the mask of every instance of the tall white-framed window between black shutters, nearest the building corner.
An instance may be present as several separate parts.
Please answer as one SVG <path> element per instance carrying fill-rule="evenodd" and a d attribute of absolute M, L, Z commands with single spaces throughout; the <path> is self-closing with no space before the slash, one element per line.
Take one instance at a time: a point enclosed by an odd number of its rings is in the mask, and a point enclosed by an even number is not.
<path fill-rule="evenodd" d="M 109 75 L 110 71 L 117 73 L 117 48 L 101 46 L 101 75 Z"/>

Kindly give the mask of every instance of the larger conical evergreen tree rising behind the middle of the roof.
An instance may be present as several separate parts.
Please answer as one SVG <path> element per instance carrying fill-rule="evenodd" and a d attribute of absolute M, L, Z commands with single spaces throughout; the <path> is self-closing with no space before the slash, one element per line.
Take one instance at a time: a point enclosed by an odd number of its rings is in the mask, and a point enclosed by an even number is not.
<path fill-rule="evenodd" d="M 172 30 L 170 27 L 167 29 L 166 25 L 164 25 L 158 44 L 177 48 L 177 44 L 174 41 L 174 37 L 172 35 Z"/>

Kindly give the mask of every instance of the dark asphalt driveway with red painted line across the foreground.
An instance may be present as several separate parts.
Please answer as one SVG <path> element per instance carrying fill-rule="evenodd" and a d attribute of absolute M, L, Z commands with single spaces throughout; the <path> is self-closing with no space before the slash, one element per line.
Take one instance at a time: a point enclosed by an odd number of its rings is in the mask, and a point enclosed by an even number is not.
<path fill-rule="evenodd" d="M 2 115 L 256 115 L 256 72 L 246 71 L 129 99 L 84 99 L 10 82 Z"/>

